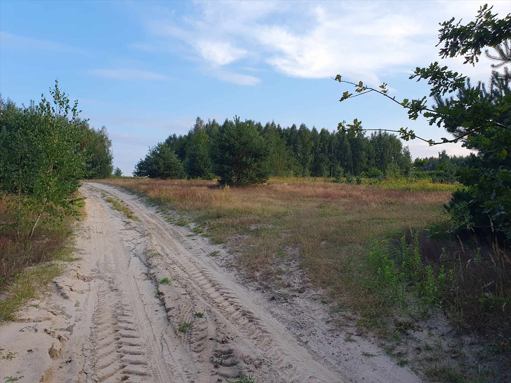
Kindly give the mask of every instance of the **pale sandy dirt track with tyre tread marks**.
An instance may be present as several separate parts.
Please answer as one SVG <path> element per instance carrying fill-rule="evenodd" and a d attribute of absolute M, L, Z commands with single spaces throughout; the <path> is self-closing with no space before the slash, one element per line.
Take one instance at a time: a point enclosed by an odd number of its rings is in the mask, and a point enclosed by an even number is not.
<path fill-rule="evenodd" d="M 345 341 L 292 259 L 283 265 L 289 299 L 272 301 L 231 267 L 226 249 L 169 224 L 138 197 L 95 183 L 81 192 L 81 260 L 0 328 L 0 352 L 15 355 L 0 360 L 0 379 L 421 381 L 370 340 Z M 141 221 L 112 210 L 105 196 L 124 201 Z M 162 278 L 169 283 L 158 285 Z M 183 324 L 190 324 L 185 332 Z"/>

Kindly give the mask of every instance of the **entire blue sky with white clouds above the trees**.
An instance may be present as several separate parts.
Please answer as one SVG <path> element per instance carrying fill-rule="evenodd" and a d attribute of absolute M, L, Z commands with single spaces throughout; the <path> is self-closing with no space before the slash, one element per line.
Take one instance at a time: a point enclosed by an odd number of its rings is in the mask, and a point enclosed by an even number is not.
<path fill-rule="evenodd" d="M 28 105 L 58 79 L 83 118 L 106 126 L 114 165 L 126 175 L 149 146 L 186 134 L 197 116 L 329 131 L 359 118 L 366 129 L 408 127 L 439 139 L 442 128 L 410 121 L 381 95 L 339 103 L 350 88 L 332 78 L 385 82 L 398 100 L 429 94 L 427 83 L 408 77 L 434 61 L 486 81 L 487 59 L 475 67 L 441 60 L 435 46 L 439 22 L 469 22 L 484 3 L 2 0 L 0 92 Z M 509 0 L 487 3 L 501 17 L 511 12 Z M 406 145 L 414 158 L 468 153 L 460 143 Z"/>

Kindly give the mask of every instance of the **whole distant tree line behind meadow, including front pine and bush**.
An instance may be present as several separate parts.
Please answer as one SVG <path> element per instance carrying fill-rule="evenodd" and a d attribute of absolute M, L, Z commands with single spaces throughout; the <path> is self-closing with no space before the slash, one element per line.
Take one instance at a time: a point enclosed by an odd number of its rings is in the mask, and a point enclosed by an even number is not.
<path fill-rule="evenodd" d="M 351 137 L 345 132 L 283 128 L 268 122 L 225 119 L 223 124 L 197 117 L 185 135 L 170 135 L 151 147 L 133 174 L 153 178 L 220 178 L 221 184 L 246 185 L 275 177 L 342 177 L 412 169 L 407 147 L 394 134 L 374 132 Z"/>

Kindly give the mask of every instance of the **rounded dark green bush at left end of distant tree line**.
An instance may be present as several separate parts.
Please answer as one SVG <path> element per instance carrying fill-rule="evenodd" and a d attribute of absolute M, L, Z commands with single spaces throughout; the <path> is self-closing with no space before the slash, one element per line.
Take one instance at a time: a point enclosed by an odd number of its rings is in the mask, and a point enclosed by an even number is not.
<path fill-rule="evenodd" d="M 186 178 L 182 162 L 177 154 L 165 143 L 149 148 L 144 159 L 135 166 L 134 176 L 150 178 Z"/>

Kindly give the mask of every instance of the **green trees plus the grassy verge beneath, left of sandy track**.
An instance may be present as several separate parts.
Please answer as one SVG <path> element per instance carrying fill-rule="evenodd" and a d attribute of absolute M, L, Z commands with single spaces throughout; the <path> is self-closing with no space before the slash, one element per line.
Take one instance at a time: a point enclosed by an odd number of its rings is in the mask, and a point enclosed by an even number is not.
<path fill-rule="evenodd" d="M 50 95 L 29 107 L 0 99 L 0 321 L 73 259 L 79 179 L 113 170 L 106 129 L 90 128 L 58 82 Z"/>

